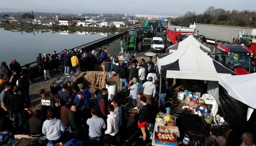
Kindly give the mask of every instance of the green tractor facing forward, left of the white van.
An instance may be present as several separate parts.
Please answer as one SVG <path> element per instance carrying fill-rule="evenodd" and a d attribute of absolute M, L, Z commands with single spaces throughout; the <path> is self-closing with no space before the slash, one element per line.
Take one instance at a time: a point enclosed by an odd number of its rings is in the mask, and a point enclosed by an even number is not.
<path fill-rule="evenodd" d="M 139 30 L 129 30 L 124 37 L 124 51 L 133 49 L 133 52 L 141 52 L 142 37 L 139 35 Z"/>

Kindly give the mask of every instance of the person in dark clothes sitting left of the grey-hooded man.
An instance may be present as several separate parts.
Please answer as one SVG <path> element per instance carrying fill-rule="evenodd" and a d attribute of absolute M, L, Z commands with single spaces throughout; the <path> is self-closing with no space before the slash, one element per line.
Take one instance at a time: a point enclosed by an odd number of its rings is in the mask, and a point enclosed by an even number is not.
<path fill-rule="evenodd" d="M 25 128 L 30 130 L 30 134 L 33 137 L 40 137 L 42 135 L 43 121 L 41 116 L 41 110 L 35 110 L 33 117 L 29 118 L 25 125 Z"/>

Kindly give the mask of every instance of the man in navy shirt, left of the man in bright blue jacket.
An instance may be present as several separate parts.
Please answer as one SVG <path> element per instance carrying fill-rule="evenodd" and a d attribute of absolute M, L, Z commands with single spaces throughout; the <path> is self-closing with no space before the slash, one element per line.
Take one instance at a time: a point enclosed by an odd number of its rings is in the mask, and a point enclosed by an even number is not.
<path fill-rule="evenodd" d="M 63 83 L 62 90 L 58 92 L 58 96 L 60 98 L 60 106 L 63 106 L 68 103 L 68 99 L 72 97 L 71 93 L 67 91 L 68 84 Z"/>

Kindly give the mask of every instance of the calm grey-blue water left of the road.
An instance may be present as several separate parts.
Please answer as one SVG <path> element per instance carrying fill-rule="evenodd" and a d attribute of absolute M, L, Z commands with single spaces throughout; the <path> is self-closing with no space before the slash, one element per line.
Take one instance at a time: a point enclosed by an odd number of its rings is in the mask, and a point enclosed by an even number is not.
<path fill-rule="evenodd" d="M 36 61 L 38 53 L 52 54 L 55 50 L 71 49 L 113 33 L 99 32 L 50 32 L 50 30 L 24 30 L 0 28 L 0 62 L 9 65 L 15 58 L 20 65 Z"/>

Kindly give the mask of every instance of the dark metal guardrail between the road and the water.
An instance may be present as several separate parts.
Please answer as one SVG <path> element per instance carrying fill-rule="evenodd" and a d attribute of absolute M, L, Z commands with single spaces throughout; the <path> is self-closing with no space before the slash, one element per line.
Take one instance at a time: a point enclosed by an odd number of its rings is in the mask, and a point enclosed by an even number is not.
<path fill-rule="evenodd" d="M 134 28 L 131 28 L 131 29 L 129 29 L 129 30 L 136 29 L 136 28 L 138 28 L 138 27 L 134 27 Z M 72 49 L 79 48 L 79 49 L 81 49 L 81 50 L 83 50 L 83 51 L 88 51 L 88 50 L 90 50 L 90 49 L 92 50 L 92 49 L 94 49 L 95 47 L 101 46 L 101 45 L 103 45 L 103 44 L 106 44 L 107 42 L 110 42 L 110 41 L 113 41 L 113 40 L 116 40 L 116 39 L 120 38 L 121 35 L 124 35 L 125 32 L 126 32 L 126 31 L 119 32 L 119 33 L 117 33 L 117 34 L 113 34 L 113 35 L 110 35 L 110 36 L 108 36 L 108 37 L 105 37 L 105 38 L 102 38 L 102 39 L 98 39 L 98 40 L 96 40 L 96 41 L 93 41 L 93 42 L 90 42 L 90 43 L 86 43 L 86 44 L 84 44 L 84 45 L 80 45 L 80 46 L 74 47 L 74 48 L 72 48 Z M 72 49 L 68 49 L 68 51 L 71 51 Z M 60 53 L 61 53 L 61 52 L 60 52 Z M 59 55 L 60 53 L 56 53 L 56 54 Z M 32 65 L 32 64 L 35 64 L 35 63 L 37 63 L 37 61 L 30 62 L 30 63 L 28 63 L 28 64 L 29 64 L 29 65 Z M 23 68 L 23 67 L 25 67 L 25 65 L 22 65 L 21 67 Z"/>

